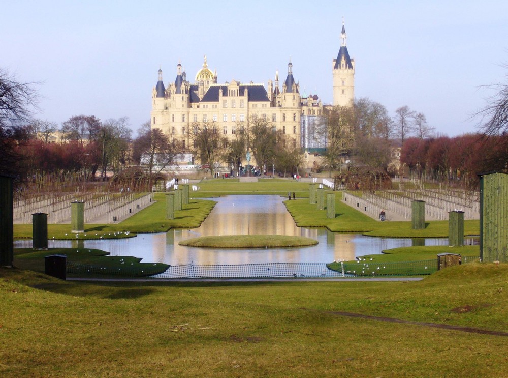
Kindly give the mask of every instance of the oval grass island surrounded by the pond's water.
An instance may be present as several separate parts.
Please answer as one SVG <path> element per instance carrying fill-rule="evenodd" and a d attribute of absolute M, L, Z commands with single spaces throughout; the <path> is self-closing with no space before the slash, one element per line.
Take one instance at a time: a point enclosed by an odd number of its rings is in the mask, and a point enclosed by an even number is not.
<path fill-rule="evenodd" d="M 186 239 L 178 243 L 191 247 L 273 248 L 315 245 L 317 241 L 302 236 L 286 235 L 221 235 Z"/>

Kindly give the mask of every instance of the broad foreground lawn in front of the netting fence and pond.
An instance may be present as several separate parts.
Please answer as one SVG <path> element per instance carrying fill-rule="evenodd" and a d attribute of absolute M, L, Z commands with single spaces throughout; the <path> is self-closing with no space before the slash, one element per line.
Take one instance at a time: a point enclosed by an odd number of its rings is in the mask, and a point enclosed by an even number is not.
<path fill-rule="evenodd" d="M 501 377 L 508 265 L 420 282 L 60 281 L 0 268 L 0 375 Z"/>

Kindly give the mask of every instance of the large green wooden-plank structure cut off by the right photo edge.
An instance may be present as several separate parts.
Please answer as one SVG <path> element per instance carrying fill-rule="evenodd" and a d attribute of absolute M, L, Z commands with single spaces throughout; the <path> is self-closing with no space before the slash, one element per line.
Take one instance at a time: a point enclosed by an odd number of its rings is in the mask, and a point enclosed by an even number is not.
<path fill-rule="evenodd" d="M 508 175 L 480 175 L 480 259 L 508 263 Z"/>

